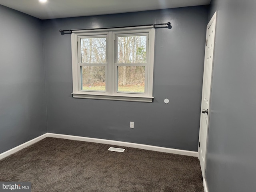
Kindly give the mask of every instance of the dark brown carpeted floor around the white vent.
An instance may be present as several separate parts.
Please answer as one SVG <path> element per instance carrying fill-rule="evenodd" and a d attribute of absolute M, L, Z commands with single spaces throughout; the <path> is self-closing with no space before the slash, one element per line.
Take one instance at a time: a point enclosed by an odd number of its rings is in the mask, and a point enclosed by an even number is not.
<path fill-rule="evenodd" d="M 0 160 L 0 181 L 32 182 L 32 192 L 204 191 L 196 157 L 109 147 L 45 138 Z"/>

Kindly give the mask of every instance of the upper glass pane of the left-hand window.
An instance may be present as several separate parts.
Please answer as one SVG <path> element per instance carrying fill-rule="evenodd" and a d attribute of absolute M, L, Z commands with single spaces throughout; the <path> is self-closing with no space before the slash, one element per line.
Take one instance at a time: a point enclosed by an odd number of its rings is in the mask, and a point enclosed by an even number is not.
<path fill-rule="evenodd" d="M 106 63 L 106 38 L 81 39 L 82 63 Z"/>

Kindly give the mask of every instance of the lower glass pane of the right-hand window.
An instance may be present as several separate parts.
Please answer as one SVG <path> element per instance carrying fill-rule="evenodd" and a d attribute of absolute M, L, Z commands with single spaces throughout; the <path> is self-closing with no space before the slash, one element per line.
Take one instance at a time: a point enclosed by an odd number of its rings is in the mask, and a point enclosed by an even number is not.
<path fill-rule="evenodd" d="M 145 66 L 118 66 L 118 91 L 145 92 Z"/>

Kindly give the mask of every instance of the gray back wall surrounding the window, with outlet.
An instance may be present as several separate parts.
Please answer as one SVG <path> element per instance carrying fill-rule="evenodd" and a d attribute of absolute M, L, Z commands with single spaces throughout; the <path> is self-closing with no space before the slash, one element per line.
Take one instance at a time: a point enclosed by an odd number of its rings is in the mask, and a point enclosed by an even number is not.
<path fill-rule="evenodd" d="M 196 6 L 43 20 L 48 132 L 197 151 L 207 18 Z M 153 103 L 72 98 L 71 40 L 60 29 L 169 21 L 156 29 Z"/>

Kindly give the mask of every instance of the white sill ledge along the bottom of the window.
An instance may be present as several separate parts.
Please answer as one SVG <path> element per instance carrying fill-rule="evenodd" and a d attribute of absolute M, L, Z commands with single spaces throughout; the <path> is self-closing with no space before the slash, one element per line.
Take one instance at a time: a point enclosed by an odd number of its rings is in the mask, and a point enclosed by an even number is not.
<path fill-rule="evenodd" d="M 80 93 L 71 93 L 71 94 L 73 94 L 73 98 L 133 101 L 133 102 L 147 102 L 147 103 L 152 103 L 154 99 L 154 97 L 144 97 L 144 96 L 116 96 L 116 95 L 96 95 L 96 94 L 80 94 Z"/>

